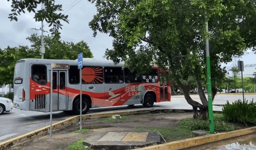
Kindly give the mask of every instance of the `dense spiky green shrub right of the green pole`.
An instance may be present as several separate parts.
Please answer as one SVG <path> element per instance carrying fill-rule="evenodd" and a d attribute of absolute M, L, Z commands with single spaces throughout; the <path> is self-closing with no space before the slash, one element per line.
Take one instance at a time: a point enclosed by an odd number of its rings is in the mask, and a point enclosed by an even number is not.
<path fill-rule="evenodd" d="M 253 100 L 248 103 L 248 100 L 232 102 L 222 108 L 224 119 L 231 122 L 241 122 L 247 125 L 248 123 L 256 124 L 256 103 Z"/>

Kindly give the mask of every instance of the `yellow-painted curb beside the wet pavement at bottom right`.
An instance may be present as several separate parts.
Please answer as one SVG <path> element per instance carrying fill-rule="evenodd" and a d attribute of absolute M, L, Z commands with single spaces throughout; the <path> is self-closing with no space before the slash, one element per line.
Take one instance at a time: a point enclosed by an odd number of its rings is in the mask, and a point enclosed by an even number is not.
<path fill-rule="evenodd" d="M 134 150 L 180 150 L 180 149 L 191 148 L 191 147 L 195 147 L 203 144 L 209 144 L 211 142 L 216 142 L 224 139 L 252 134 L 255 132 L 256 132 L 256 126 L 250 127 L 247 129 L 240 129 L 240 130 L 235 130 L 230 132 L 216 133 L 211 135 L 204 135 L 204 136 L 199 136 L 194 138 L 177 140 L 177 141 L 172 141 L 165 144 L 138 148 Z"/>

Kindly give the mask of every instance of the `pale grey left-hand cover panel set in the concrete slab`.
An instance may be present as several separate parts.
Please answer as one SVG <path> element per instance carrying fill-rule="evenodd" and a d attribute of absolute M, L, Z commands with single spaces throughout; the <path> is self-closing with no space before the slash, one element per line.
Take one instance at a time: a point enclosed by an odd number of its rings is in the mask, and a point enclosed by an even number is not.
<path fill-rule="evenodd" d="M 127 132 L 108 132 L 98 141 L 121 141 Z"/>

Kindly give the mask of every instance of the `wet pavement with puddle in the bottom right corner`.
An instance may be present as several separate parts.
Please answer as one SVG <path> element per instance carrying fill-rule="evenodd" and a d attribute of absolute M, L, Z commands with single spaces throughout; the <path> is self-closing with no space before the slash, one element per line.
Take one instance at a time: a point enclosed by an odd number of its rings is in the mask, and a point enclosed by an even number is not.
<path fill-rule="evenodd" d="M 183 150 L 256 150 L 256 134 L 253 133 Z"/>

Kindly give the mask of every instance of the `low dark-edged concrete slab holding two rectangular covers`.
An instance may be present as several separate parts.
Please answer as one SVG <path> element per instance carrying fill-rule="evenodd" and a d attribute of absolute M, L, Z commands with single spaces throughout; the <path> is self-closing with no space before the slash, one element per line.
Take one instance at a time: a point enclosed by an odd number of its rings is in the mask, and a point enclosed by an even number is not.
<path fill-rule="evenodd" d="M 160 135 L 154 132 L 102 132 L 84 140 L 84 145 L 92 149 L 111 150 L 136 149 L 160 143 Z"/>

